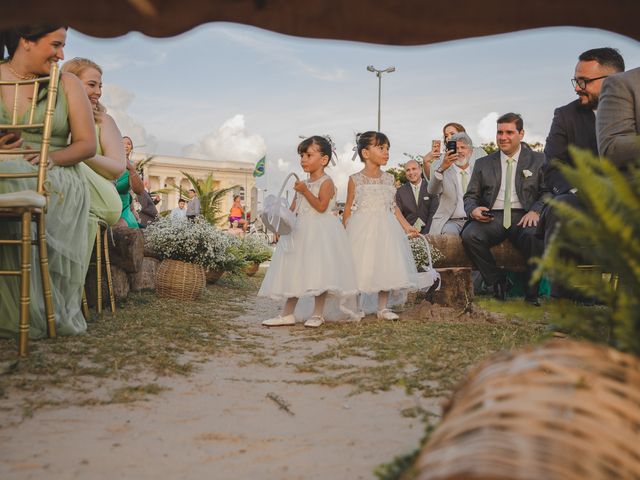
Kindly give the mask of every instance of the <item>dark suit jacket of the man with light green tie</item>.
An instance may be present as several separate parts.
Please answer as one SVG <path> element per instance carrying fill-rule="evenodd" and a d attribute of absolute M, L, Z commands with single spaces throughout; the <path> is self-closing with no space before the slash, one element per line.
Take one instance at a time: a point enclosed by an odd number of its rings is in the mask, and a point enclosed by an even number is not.
<path fill-rule="evenodd" d="M 540 212 L 542 210 L 542 196 L 545 193 L 542 174 L 543 163 L 544 154 L 534 152 L 529 148 L 520 148 L 520 156 L 514 175 L 518 199 L 527 211 Z M 531 172 L 531 175 L 525 177 L 523 173 L 525 170 Z M 467 186 L 467 193 L 464 194 L 464 210 L 467 212 L 467 216 L 470 217 L 476 207 L 491 208 L 493 206 L 500 191 L 501 180 L 500 151 L 476 160 L 471 180 Z"/>

